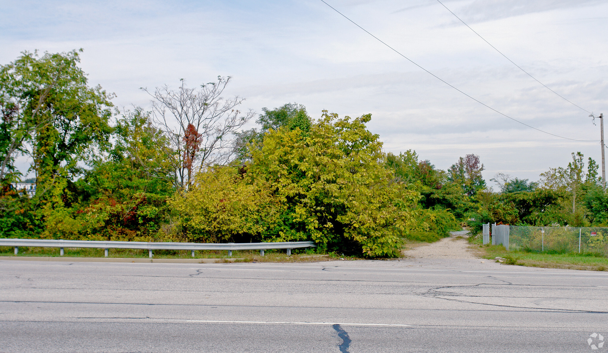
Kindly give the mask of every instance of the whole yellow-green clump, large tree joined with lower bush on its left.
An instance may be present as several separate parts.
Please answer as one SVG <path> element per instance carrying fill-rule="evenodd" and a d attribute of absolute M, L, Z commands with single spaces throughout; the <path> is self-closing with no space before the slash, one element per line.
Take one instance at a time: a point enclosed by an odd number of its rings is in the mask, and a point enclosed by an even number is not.
<path fill-rule="evenodd" d="M 416 227 L 420 198 L 384 167 L 371 115 L 323 112 L 308 131 L 269 129 L 240 167 L 200 173 L 174 197 L 176 228 L 190 241 L 305 241 L 359 256 L 396 256 Z"/>

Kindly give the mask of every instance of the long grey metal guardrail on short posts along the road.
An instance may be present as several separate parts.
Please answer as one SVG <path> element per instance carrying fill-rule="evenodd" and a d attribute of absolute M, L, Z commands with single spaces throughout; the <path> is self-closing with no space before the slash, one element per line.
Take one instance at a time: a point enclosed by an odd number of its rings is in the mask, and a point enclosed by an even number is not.
<path fill-rule="evenodd" d="M 52 239 L 0 239 L 0 246 L 15 247 L 15 255 L 19 253 L 19 247 L 58 247 L 60 255 L 63 256 L 63 248 L 102 248 L 108 257 L 109 249 L 147 249 L 150 258 L 153 250 L 191 250 L 192 257 L 196 250 L 228 250 L 228 256 L 232 256 L 233 250 L 260 250 L 264 256 L 264 250 L 286 249 L 287 255 L 291 255 L 292 248 L 316 247 L 312 241 L 293 242 L 229 242 L 226 244 L 198 243 L 198 242 L 143 242 L 143 241 L 94 241 L 94 240 L 52 240 Z"/>

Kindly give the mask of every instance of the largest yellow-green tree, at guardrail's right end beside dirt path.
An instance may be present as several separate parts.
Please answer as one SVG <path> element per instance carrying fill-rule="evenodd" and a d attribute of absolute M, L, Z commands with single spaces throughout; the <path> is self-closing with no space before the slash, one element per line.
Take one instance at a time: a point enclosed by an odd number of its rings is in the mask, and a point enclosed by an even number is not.
<path fill-rule="evenodd" d="M 313 240 L 366 256 L 395 256 L 415 224 L 419 194 L 384 168 L 371 115 L 351 120 L 323 112 L 308 134 L 280 128 L 254 144 L 248 173 L 264 177 L 288 205 L 275 239 Z"/>

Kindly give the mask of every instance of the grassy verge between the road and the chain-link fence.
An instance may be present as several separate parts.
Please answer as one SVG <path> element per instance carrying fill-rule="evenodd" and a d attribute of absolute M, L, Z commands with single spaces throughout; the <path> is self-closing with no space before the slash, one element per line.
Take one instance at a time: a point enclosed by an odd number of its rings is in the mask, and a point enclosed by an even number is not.
<path fill-rule="evenodd" d="M 579 253 L 533 253 L 521 250 L 507 252 L 502 245 L 483 245 L 479 248 L 486 253 L 483 258 L 505 259 L 503 264 L 521 265 L 530 267 L 548 267 L 551 269 L 573 269 L 606 271 L 608 258 L 594 254 Z"/>

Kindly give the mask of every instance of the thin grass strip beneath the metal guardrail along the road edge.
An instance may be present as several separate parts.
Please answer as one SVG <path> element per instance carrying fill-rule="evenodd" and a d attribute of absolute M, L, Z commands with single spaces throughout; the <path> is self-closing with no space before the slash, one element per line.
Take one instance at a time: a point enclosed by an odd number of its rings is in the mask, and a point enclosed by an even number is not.
<path fill-rule="evenodd" d="M 192 259 L 190 250 L 154 250 L 154 259 Z M 13 247 L 0 247 L 0 256 L 15 256 Z M 59 248 L 51 247 L 19 247 L 17 256 L 59 257 Z M 64 248 L 63 257 L 69 258 L 103 258 L 104 250 L 98 248 Z M 113 249 L 109 250 L 108 258 L 148 258 L 148 250 L 143 249 Z M 228 259 L 227 250 L 196 250 L 195 259 Z M 335 254 L 317 253 L 311 248 L 292 249 L 287 256 L 284 249 L 266 250 L 260 256 L 259 250 L 234 250 L 232 258 L 237 261 L 311 261 L 316 259 L 350 259 Z"/>

